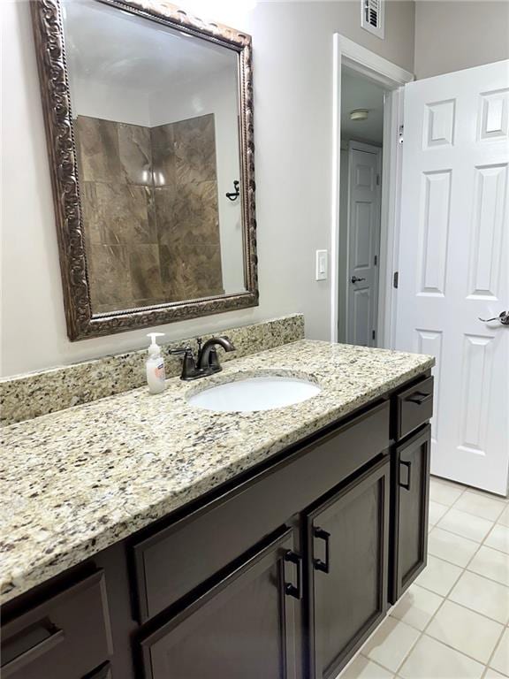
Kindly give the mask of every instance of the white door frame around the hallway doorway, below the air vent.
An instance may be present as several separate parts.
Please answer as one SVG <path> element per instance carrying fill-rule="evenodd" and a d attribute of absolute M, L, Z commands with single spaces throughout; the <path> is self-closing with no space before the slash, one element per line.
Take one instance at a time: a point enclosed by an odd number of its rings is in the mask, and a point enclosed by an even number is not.
<path fill-rule="evenodd" d="M 338 341 L 339 283 L 339 179 L 341 158 L 341 66 L 368 76 L 384 85 L 384 154 L 382 160 L 382 202 L 380 222 L 380 261 L 378 286 L 377 346 L 393 347 L 396 295 L 393 272 L 398 271 L 399 197 L 401 181 L 401 145 L 399 131 L 403 125 L 403 87 L 414 80 L 408 72 L 375 52 L 333 35 L 332 68 L 332 201 L 330 225 L 330 341 Z"/>

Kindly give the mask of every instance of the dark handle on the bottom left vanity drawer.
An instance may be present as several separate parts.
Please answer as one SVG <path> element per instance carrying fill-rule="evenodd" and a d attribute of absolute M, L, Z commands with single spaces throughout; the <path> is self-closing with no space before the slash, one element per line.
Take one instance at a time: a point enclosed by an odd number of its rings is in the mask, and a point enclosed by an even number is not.
<path fill-rule="evenodd" d="M 31 626 L 22 634 L 26 636 L 26 639 L 18 638 L 11 648 L 9 643 L 5 644 L 2 658 L 2 676 L 5 679 L 34 662 L 36 658 L 49 652 L 65 639 L 64 629 L 58 629 L 47 619 Z"/>

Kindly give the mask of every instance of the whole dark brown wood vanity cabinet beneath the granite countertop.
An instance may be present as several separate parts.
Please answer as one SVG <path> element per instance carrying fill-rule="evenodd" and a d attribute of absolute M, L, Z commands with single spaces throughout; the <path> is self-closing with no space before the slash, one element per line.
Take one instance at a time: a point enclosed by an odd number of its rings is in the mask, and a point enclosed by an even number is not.
<path fill-rule="evenodd" d="M 415 378 L 9 602 L 3 676 L 338 674 L 426 563 L 432 389 Z"/>

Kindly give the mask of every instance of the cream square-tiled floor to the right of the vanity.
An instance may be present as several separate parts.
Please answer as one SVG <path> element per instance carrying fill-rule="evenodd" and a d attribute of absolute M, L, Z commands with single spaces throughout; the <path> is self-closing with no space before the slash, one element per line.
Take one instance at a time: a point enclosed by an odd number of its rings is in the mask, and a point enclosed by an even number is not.
<path fill-rule="evenodd" d="M 429 496 L 428 567 L 340 679 L 509 677 L 509 500 L 437 477 Z"/>

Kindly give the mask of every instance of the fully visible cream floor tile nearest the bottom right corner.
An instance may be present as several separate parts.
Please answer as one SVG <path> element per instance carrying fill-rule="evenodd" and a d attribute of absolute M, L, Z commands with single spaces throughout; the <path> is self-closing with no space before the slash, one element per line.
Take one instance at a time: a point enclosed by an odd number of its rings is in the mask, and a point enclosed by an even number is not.
<path fill-rule="evenodd" d="M 499 622 L 489 620 L 452 601 L 445 601 L 429 623 L 426 634 L 452 646 L 456 651 L 487 663 L 503 629 Z"/>

